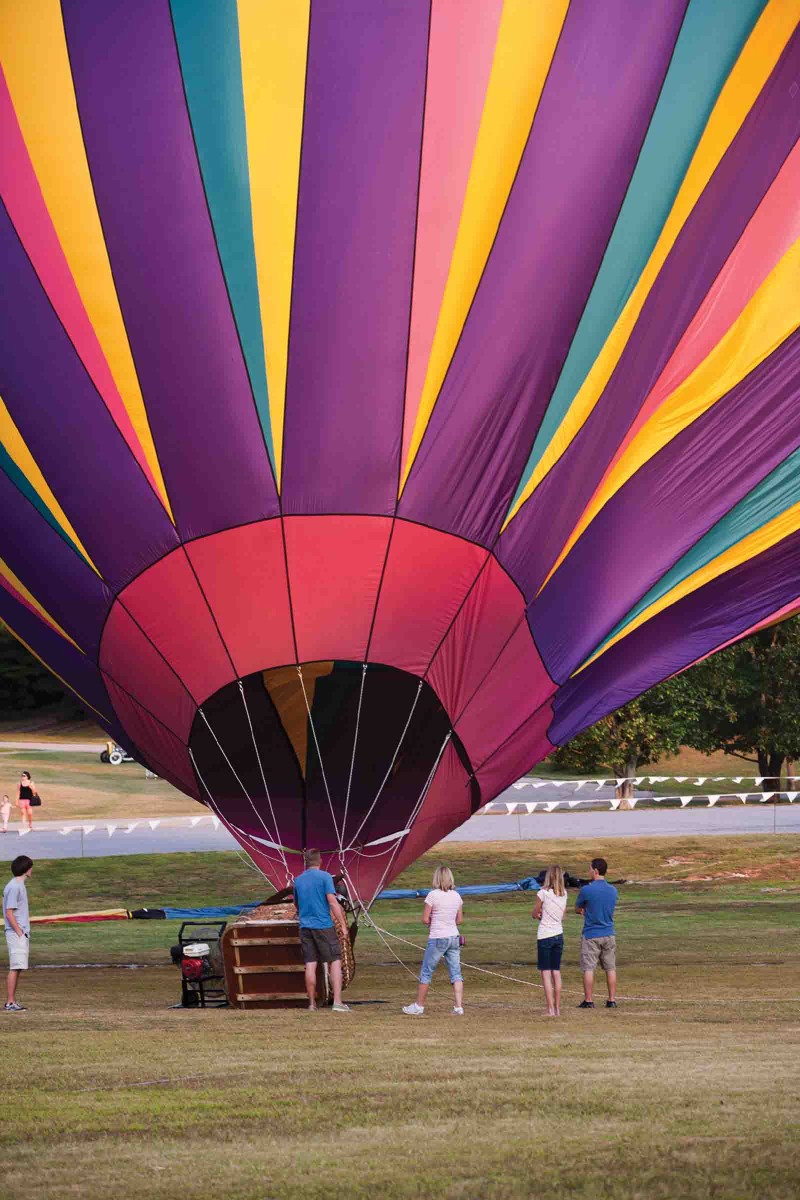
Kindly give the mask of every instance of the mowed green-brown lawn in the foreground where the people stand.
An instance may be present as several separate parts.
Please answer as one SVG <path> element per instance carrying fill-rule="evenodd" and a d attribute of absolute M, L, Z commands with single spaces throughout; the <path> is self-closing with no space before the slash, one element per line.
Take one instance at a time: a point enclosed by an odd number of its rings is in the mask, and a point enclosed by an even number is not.
<path fill-rule="evenodd" d="M 794 1198 L 800 1192 L 800 839 L 614 841 L 621 1003 L 542 1015 L 531 898 L 468 901 L 467 1013 L 367 928 L 349 1015 L 173 1010 L 174 923 L 36 929 L 0 1026 L 0 1195 Z M 547 854 L 585 871 L 585 842 Z M 593 847 L 594 850 L 594 847 Z M 597 847 L 602 850 L 602 847 Z M 591 852 L 591 851 L 590 851 Z M 457 881 L 512 880 L 534 845 L 446 846 Z M 609 856 L 610 857 L 610 856 Z M 438 854 L 403 880 L 423 886 Z M 38 912 L 266 890 L 233 854 L 37 863 Z M 421 905 L 379 904 L 417 944 Z M 420 952 L 391 941 L 416 970 Z M 142 964 L 77 970 L 65 964 Z M 511 982 L 509 978 L 516 980 Z M 599 994 L 602 998 L 602 991 Z"/>

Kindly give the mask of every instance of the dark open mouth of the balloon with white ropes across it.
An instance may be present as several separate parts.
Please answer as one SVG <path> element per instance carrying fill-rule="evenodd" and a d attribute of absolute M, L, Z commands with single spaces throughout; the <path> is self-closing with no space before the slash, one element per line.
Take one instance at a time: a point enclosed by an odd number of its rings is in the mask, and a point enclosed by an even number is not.
<path fill-rule="evenodd" d="M 368 853 L 413 823 L 449 745 L 475 811 L 473 766 L 433 688 L 397 667 L 336 660 L 225 684 L 190 734 L 200 798 L 248 851 L 272 852 Z"/>

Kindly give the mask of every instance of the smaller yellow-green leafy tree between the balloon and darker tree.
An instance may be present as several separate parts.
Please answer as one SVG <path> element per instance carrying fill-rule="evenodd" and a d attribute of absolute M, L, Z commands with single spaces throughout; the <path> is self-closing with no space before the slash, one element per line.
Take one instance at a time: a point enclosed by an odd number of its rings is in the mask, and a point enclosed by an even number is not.
<path fill-rule="evenodd" d="M 610 769 L 615 778 L 626 780 L 618 786 L 616 796 L 622 800 L 621 808 L 630 808 L 637 767 L 656 762 L 666 754 L 676 754 L 684 745 L 691 703 L 691 694 L 682 682 L 667 679 L 603 716 L 552 754 L 548 761 L 559 770 Z"/>

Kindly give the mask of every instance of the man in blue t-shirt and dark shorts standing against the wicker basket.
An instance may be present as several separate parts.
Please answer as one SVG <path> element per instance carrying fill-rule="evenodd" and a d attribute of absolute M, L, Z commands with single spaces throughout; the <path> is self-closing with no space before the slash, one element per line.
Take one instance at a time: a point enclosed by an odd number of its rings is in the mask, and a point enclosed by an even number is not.
<path fill-rule="evenodd" d="M 317 964 L 327 962 L 333 990 L 333 1012 L 349 1013 L 342 1003 L 342 950 L 333 924 L 333 914 L 339 925 L 347 925 L 342 906 L 336 899 L 333 877 L 320 871 L 323 857 L 318 850 L 303 853 L 306 870 L 294 881 L 294 896 L 300 917 L 300 948 L 306 964 L 306 992 L 308 1008 L 317 1008 Z"/>

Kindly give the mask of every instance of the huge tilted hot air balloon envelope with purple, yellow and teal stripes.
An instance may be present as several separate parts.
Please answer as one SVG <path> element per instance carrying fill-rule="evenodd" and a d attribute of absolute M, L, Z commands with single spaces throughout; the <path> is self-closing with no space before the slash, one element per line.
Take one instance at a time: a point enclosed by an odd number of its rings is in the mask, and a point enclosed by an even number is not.
<path fill-rule="evenodd" d="M 800 606 L 796 0 L 5 0 L 0 619 L 368 901 Z"/>

